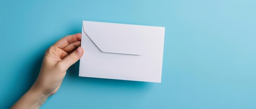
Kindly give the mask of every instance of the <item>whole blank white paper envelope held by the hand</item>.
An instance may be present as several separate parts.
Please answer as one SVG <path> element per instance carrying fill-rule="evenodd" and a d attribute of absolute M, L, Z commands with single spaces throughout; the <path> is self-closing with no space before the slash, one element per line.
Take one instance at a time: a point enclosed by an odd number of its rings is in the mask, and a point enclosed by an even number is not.
<path fill-rule="evenodd" d="M 161 83 L 164 29 L 83 21 L 79 76 Z"/>

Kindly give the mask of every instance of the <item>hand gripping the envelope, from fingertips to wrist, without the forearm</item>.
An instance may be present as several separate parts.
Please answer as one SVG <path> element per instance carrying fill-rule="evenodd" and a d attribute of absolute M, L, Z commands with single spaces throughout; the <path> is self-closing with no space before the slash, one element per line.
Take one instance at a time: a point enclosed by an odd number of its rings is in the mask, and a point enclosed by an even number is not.
<path fill-rule="evenodd" d="M 83 49 L 80 45 L 81 33 L 78 33 L 60 39 L 46 50 L 40 74 L 33 87 L 46 95 L 55 94 L 66 70 L 82 57 Z"/>

